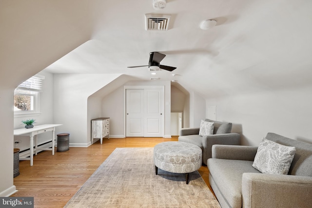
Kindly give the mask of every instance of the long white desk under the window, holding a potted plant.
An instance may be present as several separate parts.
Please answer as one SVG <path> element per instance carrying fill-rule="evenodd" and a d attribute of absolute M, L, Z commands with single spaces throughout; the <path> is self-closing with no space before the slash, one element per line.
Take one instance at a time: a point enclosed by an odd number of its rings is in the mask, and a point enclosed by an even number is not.
<path fill-rule="evenodd" d="M 30 160 L 30 166 L 33 166 L 34 163 L 34 151 L 37 155 L 38 150 L 51 150 L 52 155 L 54 155 L 54 146 L 55 146 L 55 127 L 61 126 L 62 124 L 43 124 L 34 126 L 31 129 L 15 129 L 14 135 L 22 135 L 22 134 L 29 134 L 30 137 L 30 157 L 23 157 L 20 158 L 20 160 Z M 43 132 L 50 132 L 52 131 L 52 149 L 51 148 L 38 148 L 37 144 L 37 134 L 43 133 Z M 34 149 L 34 138 L 35 138 L 35 149 Z"/>

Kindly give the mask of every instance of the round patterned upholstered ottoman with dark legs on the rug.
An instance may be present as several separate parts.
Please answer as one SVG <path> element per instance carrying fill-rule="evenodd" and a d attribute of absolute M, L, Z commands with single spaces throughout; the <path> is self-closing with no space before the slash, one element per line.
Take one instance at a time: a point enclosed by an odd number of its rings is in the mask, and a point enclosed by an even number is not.
<path fill-rule="evenodd" d="M 186 142 L 162 142 L 154 147 L 156 175 L 158 168 L 168 172 L 186 173 L 186 184 L 189 183 L 189 173 L 201 167 L 201 158 L 201 149 Z"/>

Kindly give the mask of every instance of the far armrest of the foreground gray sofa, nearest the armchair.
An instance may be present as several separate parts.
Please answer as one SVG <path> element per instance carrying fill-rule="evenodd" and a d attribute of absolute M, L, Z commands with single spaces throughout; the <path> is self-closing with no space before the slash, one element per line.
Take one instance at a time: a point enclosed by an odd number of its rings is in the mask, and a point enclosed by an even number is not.
<path fill-rule="evenodd" d="M 212 158 L 254 161 L 257 149 L 251 146 L 213 145 Z"/>

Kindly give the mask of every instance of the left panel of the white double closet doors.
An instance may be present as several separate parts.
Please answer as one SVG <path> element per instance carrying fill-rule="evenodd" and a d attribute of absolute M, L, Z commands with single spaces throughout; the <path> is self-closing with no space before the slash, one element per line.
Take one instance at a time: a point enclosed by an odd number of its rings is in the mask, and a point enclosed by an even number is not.
<path fill-rule="evenodd" d="M 144 136 L 144 90 L 126 90 L 126 136 Z"/>

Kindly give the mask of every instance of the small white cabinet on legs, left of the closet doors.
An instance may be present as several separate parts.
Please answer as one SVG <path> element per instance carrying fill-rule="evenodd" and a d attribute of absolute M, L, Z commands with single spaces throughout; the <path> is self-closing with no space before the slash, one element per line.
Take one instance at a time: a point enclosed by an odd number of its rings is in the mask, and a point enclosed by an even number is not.
<path fill-rule="evenodd" d="M 94 139 L 100 139 L 102 144 L 103 137 L 109 138 L 109 118 L 96 118 L 91 120 L 91 143 Z"/>

